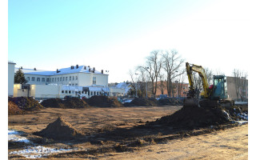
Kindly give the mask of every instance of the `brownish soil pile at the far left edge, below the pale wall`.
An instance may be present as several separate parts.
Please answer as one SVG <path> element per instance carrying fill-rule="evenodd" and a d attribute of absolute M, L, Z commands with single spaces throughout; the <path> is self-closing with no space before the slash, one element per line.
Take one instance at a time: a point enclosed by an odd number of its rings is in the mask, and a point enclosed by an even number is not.
<path fill-rule="evenodd" d="M 8 102 L 14 102 L 18 108 L 22 110 L 39 110 L 43 108 L 43 106 L 38 101 L 34 100 L 34 98 L 8 97 Z"/>

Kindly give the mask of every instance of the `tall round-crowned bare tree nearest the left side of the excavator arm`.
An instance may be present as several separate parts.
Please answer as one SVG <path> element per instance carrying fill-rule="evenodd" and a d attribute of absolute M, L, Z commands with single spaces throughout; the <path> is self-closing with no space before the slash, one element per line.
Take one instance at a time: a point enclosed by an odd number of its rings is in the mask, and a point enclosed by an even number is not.
<path fill-rule="evenodd" d="M 183 64 L 184 59 L 182 59 L 181 56 L 178 56 L 177 50 L 166 50 L 165 53 L 162 54 L 162 58 L 163 68 L 166 70 L 167 76 L 167 93 L 170 96 L 171 92 L 173 94 L 173 79 L 183 74 L 183 72 L 178 73 L 178 71 Z"/>

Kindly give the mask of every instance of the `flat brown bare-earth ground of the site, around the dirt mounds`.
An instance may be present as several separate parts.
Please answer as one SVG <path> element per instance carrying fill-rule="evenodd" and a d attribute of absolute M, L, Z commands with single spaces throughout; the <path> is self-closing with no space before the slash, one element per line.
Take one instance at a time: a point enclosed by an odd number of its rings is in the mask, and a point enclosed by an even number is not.
<path fill-rule="evenodd" d="M 28 114 L 9 115 L 8 127 L 40 146 L 73 149 L 47 155 L 50 159 L 247 159 L 248 125 L 223 125 L 178 130 L 143 125 L 174 114 L 182 106 L 138 106 L 82 109 L 44 108 Z M 41 138 L 43 130 L 61 116 L 84 136 L 71 141 Z M 10 143 L 9 153 L 23 150 L 25 143 Z M 9 154 L 10 159 L 27 159 Z"/>

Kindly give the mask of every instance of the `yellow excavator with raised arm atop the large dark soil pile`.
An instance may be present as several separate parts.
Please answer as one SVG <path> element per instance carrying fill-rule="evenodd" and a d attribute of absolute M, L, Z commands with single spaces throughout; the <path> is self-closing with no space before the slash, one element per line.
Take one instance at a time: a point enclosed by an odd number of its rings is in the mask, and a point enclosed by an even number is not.
<path fill-rule="evenodd" d="M 197 98 L 195 98 L 193 71 L 197 72 L 202 78 L 203 90 L 200 94 L 201 99 L 199 101 Z M 227 94 L 225 75 L 214 75 L 214 84 L 209 86 L 205 70 L 202 68 L 202 66 L 197 66 L 194 64 L 190 65 L 190 63 L 186 62 L 186 73 L 190 83 L 190 90 L 187 93 L 184 106 L 198 107 L 199 105 L 204 108 L 214 106 L 234 106 L 234 101 L 230 100 Z"/>

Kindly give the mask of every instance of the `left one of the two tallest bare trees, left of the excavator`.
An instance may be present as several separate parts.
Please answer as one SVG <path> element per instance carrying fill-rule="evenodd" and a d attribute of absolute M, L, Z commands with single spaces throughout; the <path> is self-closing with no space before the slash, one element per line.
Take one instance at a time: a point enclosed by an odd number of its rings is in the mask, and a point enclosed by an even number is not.
<path fill-rule="evenodd" d="M 160 56 L 160 50 L 153 50 L 150 53 L 150 56 L 146 58 L 146 66 L 138 66 L 138 68 L 143 69 L 148 73 L 150 81 L 151 81 L 151 93 L 155 96 L 157 91 L 157 82 L 158 82 L 158 74 L 162 68 L 162 60 Z"/>

